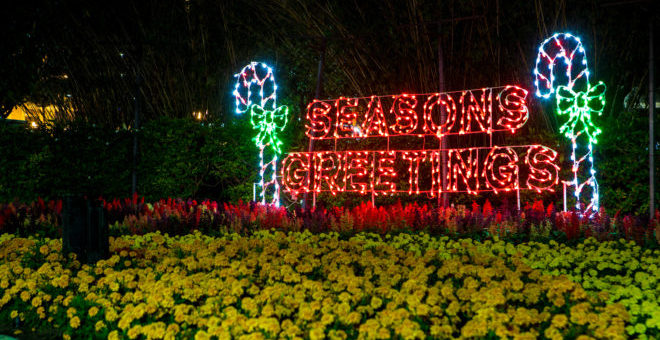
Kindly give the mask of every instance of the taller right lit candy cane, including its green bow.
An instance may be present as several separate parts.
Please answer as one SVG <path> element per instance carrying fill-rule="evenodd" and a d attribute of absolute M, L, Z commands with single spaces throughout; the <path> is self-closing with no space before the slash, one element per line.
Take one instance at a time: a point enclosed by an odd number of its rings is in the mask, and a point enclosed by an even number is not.
<path fill-rule="evenodd" d="M 563 71 L 563 72 L 562 72 Z M 555 95 L 557 114 L 567 119 L 560 132 L 571 141 L 573 179 L 567 184 L 573 189 L 575 206 L 581 209 L 582 193 L 591 189 L 585 212 L 598 210 L 598 182 L 593 159 L 593 145 L 601 133 L 592 121 L 605 106 L 605 84 L 589 82 L 587 57 L 580 38 L 569 33 L 556 33 L 539 47 L 534 69 L 536 95 Z"/>

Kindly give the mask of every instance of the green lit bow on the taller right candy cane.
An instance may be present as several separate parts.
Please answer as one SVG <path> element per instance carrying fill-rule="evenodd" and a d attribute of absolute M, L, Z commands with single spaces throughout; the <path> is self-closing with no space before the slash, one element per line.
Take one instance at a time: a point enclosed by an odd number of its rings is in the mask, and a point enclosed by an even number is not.
<path fill-rule="evenodd" d="M 599 81 L 596 86 L 587 88 L 586 92 L 574 92 L 573 89 L 566 86 L 557 87 L 557 113 L 559 115 L 568 114 L 568 121 L 559 128 L 559 132 L 564 133 L 568 138 L 572 138 L 575 133 L 575 127 L 578 122 L 584 125 L 584 132 L 589 140 L 596 144 L 596 136 L 601 130 L 591 121 L 591 113 L 596 112 L 600 116 L 605 107 L 606 86 Z"/>

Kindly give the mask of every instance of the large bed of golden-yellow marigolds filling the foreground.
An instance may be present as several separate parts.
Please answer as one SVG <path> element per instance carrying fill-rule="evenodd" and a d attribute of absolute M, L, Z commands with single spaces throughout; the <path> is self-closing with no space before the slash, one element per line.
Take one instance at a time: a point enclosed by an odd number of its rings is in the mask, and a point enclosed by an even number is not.
<path fill-rule="evenodd" d="M 88 266 L 63 258 L 59 240 L 2 235 L 0 324 L 74 339 L 623 339 L 629 313 L 605 301 L 616 293 L 534 268 L 593 243 L 152 233 L 111 239 L 113 256 Z"/>

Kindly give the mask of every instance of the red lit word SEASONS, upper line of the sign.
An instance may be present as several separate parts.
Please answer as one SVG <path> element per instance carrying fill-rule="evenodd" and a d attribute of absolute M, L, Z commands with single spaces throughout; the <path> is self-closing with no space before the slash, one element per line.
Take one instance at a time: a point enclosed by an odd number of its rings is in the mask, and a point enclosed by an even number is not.
<path fill-rule="evenodd" d="M 529 118 L 526 97 L 527 90 L 508 85 L 460 92 L 313 100 L 307 106 L 305 135 L 315 140 L 336 140 L 515 133 Z M 441 122 L 443 116 L 446 118 Z"/>

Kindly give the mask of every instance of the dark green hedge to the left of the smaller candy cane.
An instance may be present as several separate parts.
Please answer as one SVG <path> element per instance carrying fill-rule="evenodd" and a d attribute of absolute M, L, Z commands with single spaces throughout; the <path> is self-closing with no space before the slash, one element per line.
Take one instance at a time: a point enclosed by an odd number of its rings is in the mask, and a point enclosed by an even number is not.
<path fill-rule="evenodd" d="M 246 120 L 161 118 L 138 135 L 138 189 L 151 199 L 252 197 L 256 150 Z M 240 137 L 237 137 L 240 136 Z M 133 132 L 74 121 L 28 129 L 0 122 L 0 201 L 64 194 L 122 197 L 131 190 Z"/>

